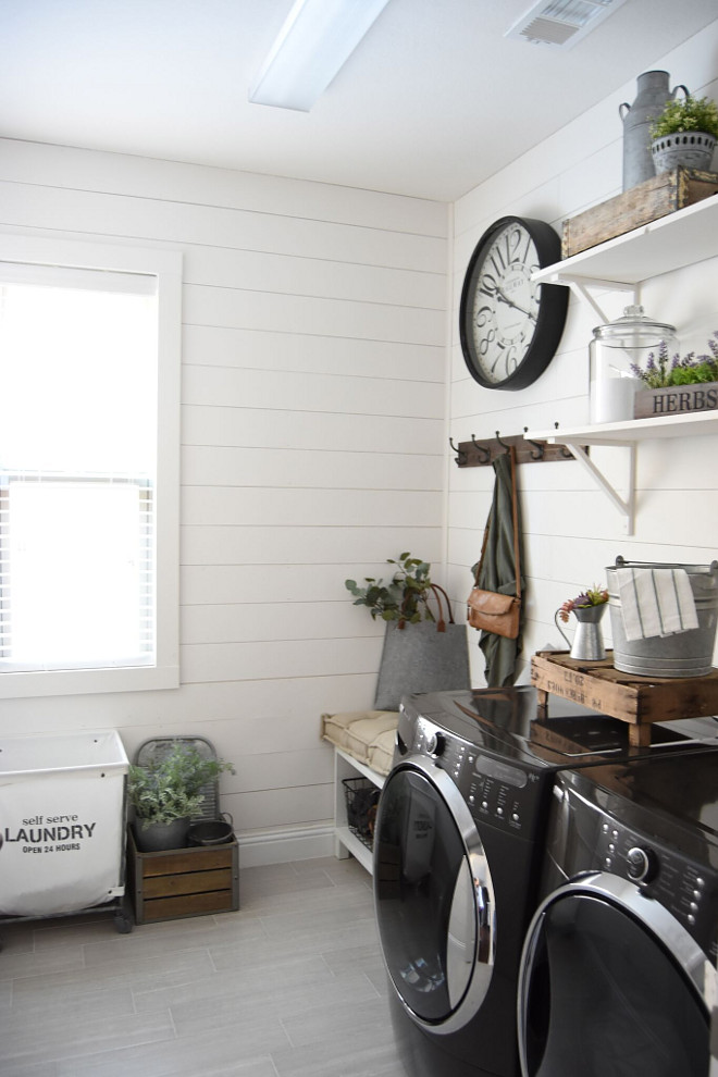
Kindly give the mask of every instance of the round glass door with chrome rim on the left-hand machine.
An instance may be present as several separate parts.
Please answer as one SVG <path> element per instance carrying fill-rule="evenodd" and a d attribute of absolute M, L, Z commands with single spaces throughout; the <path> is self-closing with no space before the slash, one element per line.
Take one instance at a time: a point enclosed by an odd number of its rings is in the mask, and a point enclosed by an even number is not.
<path fill-rule="evenodd" d="M 418 1025 L 454 1032 L 476 1013 L 494 968 L 494 889 L 454 782 L 417 757 L 387 778 L 374 831 L 384 961 Z"/>

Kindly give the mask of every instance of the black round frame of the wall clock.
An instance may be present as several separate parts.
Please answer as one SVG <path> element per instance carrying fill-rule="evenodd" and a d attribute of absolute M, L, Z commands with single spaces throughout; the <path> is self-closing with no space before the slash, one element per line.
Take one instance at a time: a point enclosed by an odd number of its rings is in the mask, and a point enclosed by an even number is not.
<path fill-rule="evenodd" d="M 459 307 L 459 335 L 461 351 L 469 373 L 483 385 L 494 389 L 522 389 L 532 385 L 543 374 L 556 355 L 568 311 L 569 289 L 562 284 L 538 285 L 538 315 L 529 349 L 518 369 L 503 382 L 492 382 L 482 372 L 473 342 L 472 311 L 478 278 L 483 267 L 482 256 L 488 249 L 497 232 L 510 224 L 520 224 L 533 239 L 538 265 L 553 265 L 560 261 L 561 240 L 558 233 L 545 221 L 524 216 L 502 216 L 486 228 L 469 260 Z"/>

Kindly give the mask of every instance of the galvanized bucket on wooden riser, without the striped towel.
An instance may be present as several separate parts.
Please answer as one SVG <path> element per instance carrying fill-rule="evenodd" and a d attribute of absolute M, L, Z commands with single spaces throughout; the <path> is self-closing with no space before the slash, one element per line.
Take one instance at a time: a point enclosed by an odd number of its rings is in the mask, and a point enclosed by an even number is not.
<path fill-rule="evenodd" d="M 619 568 L 683 569 L 693 592 L 697 629 L 647 640 L 627 640 L 618 595 Z M 617 557 L 616 565 L 606 568 L 606 575 L 616 669 L 639 677 L 705 677 L 713 670 L 718 624 L 718 560 L 710 565 L 679 565 L 627 561 Z"/>

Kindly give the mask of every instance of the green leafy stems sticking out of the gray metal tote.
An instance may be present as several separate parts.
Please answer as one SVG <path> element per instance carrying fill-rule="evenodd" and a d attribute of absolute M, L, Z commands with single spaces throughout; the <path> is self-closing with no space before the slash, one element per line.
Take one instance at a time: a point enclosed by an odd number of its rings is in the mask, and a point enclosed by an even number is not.
<path fill-rule="evenodd" d="M 388 583 L 382 579 L 364 577 L 366 587 L 356 580 L 345 580 L 347 591 L 355 595 L 355 606 L 367 606 L 372 618 L 384 621 L 398 621 L 399 628 L 416 624 L 422 619 L 435 620 L 426 598 L 431 592 L 431 565 L 410 553 L 399 554 L 398 560 L 386 559 L 387 565 L 396 565 Z"/>

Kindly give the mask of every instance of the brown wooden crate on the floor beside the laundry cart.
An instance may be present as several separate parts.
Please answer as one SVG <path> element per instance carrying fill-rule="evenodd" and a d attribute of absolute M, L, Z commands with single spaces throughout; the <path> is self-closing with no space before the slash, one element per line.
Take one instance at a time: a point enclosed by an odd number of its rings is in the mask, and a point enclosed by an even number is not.
<path fill-rule="evenodd" d="M 140 853 L 127 828 L 127 880 L 137 924 L 239 908 L 239 850 L 223 845 Z"/>

